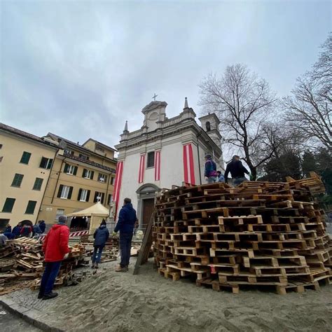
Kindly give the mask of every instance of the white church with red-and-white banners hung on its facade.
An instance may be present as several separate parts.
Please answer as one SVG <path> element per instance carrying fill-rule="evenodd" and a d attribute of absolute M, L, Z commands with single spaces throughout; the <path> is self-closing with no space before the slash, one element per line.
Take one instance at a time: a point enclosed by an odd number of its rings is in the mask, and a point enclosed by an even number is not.
<path fill-rule="evenodd" d="M 202 116 L 188 107 L 179 116 L 167 118 L 166 102 L 154 101 L 141 112 L 144 122 L 139 130 L 125 130 L 120 135 L 118 166 L 113 200 L 116 209 L 123 199 L 132 199 L 140 228 L 145 228 L 154 209 L 155 195 L 162 188 L 189 184 L 205 184 L 205 155 L 214 156 L 217 170 L 223 172 L 219 119 L 214 113 Z"/>

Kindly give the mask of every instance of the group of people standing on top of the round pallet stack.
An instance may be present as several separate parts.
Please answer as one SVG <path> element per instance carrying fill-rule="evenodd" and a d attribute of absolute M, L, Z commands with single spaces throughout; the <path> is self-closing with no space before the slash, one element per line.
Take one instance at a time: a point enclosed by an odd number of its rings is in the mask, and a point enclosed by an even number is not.
<path fill-rule="evenodd" d="M 208 184 L 213 184 L 214 182 L 226 182 L 228 183 L 228 174 L 232 176 L 233 186 L 238 186 L 246 181 L 247 178 L 244 174 L 249 172 L 246 167 L 242 165 L 240 157 L 238 155 L 233 155 L 232 160 L 227 164 L 225 174 L 221 174 L 220 171 L 216 170 L 216 162 L 212 159 L 212 155 L 205 155 L 205 180 Z"/>

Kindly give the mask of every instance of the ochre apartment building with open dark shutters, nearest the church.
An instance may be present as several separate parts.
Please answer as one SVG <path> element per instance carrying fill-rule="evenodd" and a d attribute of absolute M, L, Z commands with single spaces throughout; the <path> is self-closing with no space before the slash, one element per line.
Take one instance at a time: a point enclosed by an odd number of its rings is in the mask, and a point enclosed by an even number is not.
<path fill-rule="evenodd" d="M 54 223 L 60 215 L 86 209 L 95 202 L 109 208 L 116 175 L 115 149 L 95 139 L 84 144 L 48 133 L 43 139 L 58 144 L 38 219 Z"/>

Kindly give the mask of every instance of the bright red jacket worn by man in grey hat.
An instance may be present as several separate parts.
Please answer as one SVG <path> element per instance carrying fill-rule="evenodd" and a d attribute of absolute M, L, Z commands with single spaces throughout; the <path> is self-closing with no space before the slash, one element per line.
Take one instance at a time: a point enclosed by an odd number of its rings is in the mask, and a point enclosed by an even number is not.
<path fill-rule="evenodd" d="M 62 261 L 69 253 L 69 228 L 65 225 L 53 225 L 43 243 L 46 262 Z"/>

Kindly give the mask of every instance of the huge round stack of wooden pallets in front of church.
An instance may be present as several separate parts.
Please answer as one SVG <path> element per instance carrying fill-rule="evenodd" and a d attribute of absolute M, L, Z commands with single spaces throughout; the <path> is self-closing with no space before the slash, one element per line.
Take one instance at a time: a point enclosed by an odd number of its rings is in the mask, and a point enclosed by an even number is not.
<path fill-rule="evenodd" d="M 277 293 L 331 281 L 332 247 L 314 202 L 319 177 L 163 190 L 153 226 L 158 272 L 214 290 Z"/>

